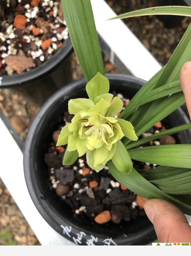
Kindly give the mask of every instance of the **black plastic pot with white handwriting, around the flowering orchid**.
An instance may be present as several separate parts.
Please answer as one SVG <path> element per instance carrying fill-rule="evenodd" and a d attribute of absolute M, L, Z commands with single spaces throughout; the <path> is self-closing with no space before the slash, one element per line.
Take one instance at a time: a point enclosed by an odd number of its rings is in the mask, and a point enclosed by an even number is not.
<path fill-rule="evenodd" d="M 110 80 L 110 91 L 115 90 L 128 98 L 132 98 L 145 83 L 141 79 L 128 75 L 110 74 L 107 77 Z M 44 104 L 30 127 L 24 149 L 24 174 L 30 196 L 47 223 L 71 241 L 73 241 L 73 237 L 77 237 L 76 234 L 81 234 L 80 231 L 82 231 L 86 236 L 80 237 L 81 245 L 93 241 L 91 235 L 98 238 L 95 245 L 107 244 L 108 240 L 105 242 L 104 240 L 108 238 L 112 238 L 117 245 L 146 245 L 156 239 L 153 225 L 146 216 L 118 225 L 113 223 L 98 225 L 88 218 L 85 222 L 80 222 L 74 219 L 69 207 L 63 202 L 61 203 L 49 182 L 44 154 L 47 153 L 48 146 L 52 141 L 53 131 L 63 120 L 68 100 L 87 97 L 85 85 L 85 80 L 80 79 L 59 90 Z M 164 122 L 170 128 L 189 121 L 184 112 L 178 109 Z M 191 141 L 190 131 L 179 133 L 176 139 L 178 142 L 187 143 L 187 138 L 190 138 Z M 71 227 L 68 235 L 67 228 L 63 229 L 66 226 Z"/>

